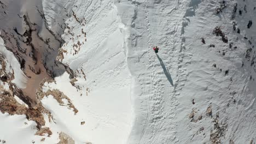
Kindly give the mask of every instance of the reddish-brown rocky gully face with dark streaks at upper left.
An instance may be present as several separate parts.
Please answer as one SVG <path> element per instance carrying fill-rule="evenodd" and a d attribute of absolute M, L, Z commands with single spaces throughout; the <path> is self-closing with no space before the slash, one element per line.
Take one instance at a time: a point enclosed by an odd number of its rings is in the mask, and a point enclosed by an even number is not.
<path fill-rule="evenodd" d="M 39 83 L 45 78 L 53 79 L 61 75 L 68 68 L 56 61 L 63 44 L 61 33 L 53 32 L 48 27 L 41 1 L 2 1 L 1 5 L 4 8 L 4 14 L 0 16 L 1 38 L 6 49 L 18 60 L 26 77 L 26 86 L 15 87 L 15 94 L 26 99 L 26 104 L 34 105 Z M 63 27 L 60 26 L 59 31 L 63 31 Z"/>

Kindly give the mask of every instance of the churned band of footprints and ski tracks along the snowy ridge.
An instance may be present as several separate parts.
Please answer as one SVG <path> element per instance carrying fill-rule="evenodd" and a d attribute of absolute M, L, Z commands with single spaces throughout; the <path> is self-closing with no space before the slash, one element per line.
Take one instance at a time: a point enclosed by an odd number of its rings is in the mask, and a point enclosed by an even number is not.
<path fill-rule="evenodd" d="M 169 7 L 173 9 L 173 6 L 170 4 L 169 1 L 160 1 L 159 3 L 164 3 L 164 5 L 167 3 L 168 7 L 166 6 L 164 8 L 162 7 L 155 8 L 154 10 L 156 11 L 161 10 L 162 12 L 163 10 L 166 10 L 166 11 L 169 10 L 168 9 Z M 177 105 L 177 98 L 176 98 L 176 93 L 172 91 L 173 91 L 173 88 L 176 87 L 175 85 L 177 85 L 177 83 L 176 84 L 174 83 L 173 85 L 173 82 L 172 82 L 173 80 L 169 80 L 167 78 L 171 77 L 170 75 L 175 74 L 175 70 L 174 69 L 172 70 L 169 68 L 170 68 L 170 65 L 172 65 L 172 63 L 173 65 L 177 63 L 177 60 L 174 56 L 180 55 L 178 54 L 179 49 L 177 49 L 177 47 L 179 47 L 180 45 L 179 41 L 181 41 L 181 37 L 179 35 L 181 35 L 180 28 L 182 25 L 181 23 L 178 23 L 178 21 L 181 21 L 183 16 L 175 17 L 175 15 L 178 15 L 181 11 L 177 11 L 179 7 L 178 2 L 176 1 L 174 3 L 177 4 L 174 7 L 174 10 L 171 10 L 171 12 L 169 11 L 167 15 L 164 13 L 161 16 L 152 14 L 154 13 L 153 9 L 150 9 L 151 11 L 149 12 L 148 8 L 153 8 L 155 7 L 155 5 L 158 6 L 158 4 L 155 4 L 151 1 L 144 1 L 144 3 L 140 3 L 139 5 L 137 5 L 136 7 L 137 9 L 135 8 L 136 9 L 135 11 L 137 11 L 136 13 L 138 13 L 136 14 L 136 19 L 142 19 L 142 17 L 138 17 L 138 15 L 140 10 L 144 11 L 143 19 L 144 19 L 144 22 L 146 23 L 145 24 L 146 28 L 145 28 L 145 32 L 143 32 L 142 37 L 146 37 L 147 43 L 148 43 L 147 44 L 148 47 L 145 46 L 147 55 L 142 55 L 144 56 L 144 59 L 145 59 L 143 62 L 143 69 L 144 69 L 143 95 L 145 95 L 144 101 L 147 107 L 147 111 L 146 111 L 146 116 L 144 119 L 144 124 L 143 124 L 142 132 L 139 137 L 138 143 L 159 143 L 159 142 L 164 143 L 171 140 L 173 140 L 173 142 L 176 141 L 174 140 L 176 137 L 176 130 L 175 130 L 175 127 L 173 126 L 175 125 L 175 122 L 173 121 L 173 119 L 176 115 L 175 109 Z M 142 9 L 141 5 L 143 4 L 145 5 L 143 6 L 143 9 Z M 157 13 L 158 12 L 156 12 L 156 14 Z M 172 15 L 174 16 L 172 17 Z M 151 17 L 150 20 L 149 20 L 149 16 Z M 166 19 L 167 16 L 171 16 L 174 19 L 172 19 L 172 21 L 165 21 L 165 20 L 168 20 Z M 155 19 L 154 25 L 150 23 L 150 21 L 153 19 Z M 168 22 L 173 23 L 174 27 L 172 27 L 172 29 L 168 27 L 167 29 L 165 29 L 165 25 L 168 25 Z M 154 34 L 152 33 L 151 28 L 154 29 Z M 170 33 L 171 38 L 167 38 L 165 37 L 165 35 L 161 35 L 162 31 Z M 168 31 L 171 31 L 171 32 L 168 32 Z M 146 35 L 146 33 L 148 34 Z M 152 50 L 152 47 L 155 45 L 158 45 L 160 47 L 160 52 L 158 54 L 159 56 L 156 56 Z M 167 59 L 167 60 L 170 60 L 171 63 L 163 62 L 160 56 L 162 56 L 164 61 L 166 61 L 165 59 Z M 170 59 L 170 57 L 173 59 Z M 158 63 L 157 59 L 160 61 L 160 64 Z M 166 68 L 165 64 L 168 65 L 169 67 Z M 179 64 L 179 65 L 182 65 L 182 64 Z M 162 70 L 164 70 L 164 73 L 162 73 Z M 167 73 L 166 71 L 168 70 L 171 70 L 173 73 L 171 74 Z M 181 76 L 183 76 L 183 73 L 184 72 L 181 71 Z M 170 92 L 171 94 L 170 93 L 167 95 L 164 94 L 163 91 L 165 91 L 164 89 L 166 88 L 166 86 L 170 87 L 168 88 L 168 92 Z M 170 103 L 167 103 L 167 101 Z M 166 106 L 166 104 L 170 106 Z M 166 123 L 172 123 L 172 124 L 165 125 Z M 160 138 L 160 136 L 164 136 L 166 139 L 163 140 L 162 138 Z"/>

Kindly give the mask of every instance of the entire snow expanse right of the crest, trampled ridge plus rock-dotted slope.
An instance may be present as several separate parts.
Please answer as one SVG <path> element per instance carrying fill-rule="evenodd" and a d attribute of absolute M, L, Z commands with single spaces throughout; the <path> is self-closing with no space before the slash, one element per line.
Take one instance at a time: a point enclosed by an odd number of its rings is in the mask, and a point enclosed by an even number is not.
<path fill-rule="evenodd" d="M 254 143 L 254 1 L 117 7 L 130 29 L 136 121 L 128 143 Z"/>

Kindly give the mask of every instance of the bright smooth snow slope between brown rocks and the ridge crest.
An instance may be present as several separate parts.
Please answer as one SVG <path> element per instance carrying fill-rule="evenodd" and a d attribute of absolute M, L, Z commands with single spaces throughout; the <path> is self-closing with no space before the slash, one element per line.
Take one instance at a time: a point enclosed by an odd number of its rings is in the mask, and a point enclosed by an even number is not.
<path fill-rule="evenodd" d="M 78 8 L 72 9 L 72 13 L 77 15 L 82 24 L 70 17 L 66 20 L 66 25 L 71 27 L 73 35 L 68 32 L 62 35 L 66 41 L 62 49 L 67 51 L 64 53 L 63 63 L 77 70 L 75 85 L 80 87 L 77 93 L 68 92 L 71 85 L 67 81 L 70 85 L 67 95 L 69 98 L 73 95 L 82 97 L 74 97 L 73 103 L 80 107 L 79 113 L 84 115 L 85 125 L 88 125 L 81 131 L 85 134 L 82 136 L 84 140 L 91 143 L 124 143 L 130 133 L 132 112 L 131 78 L 123 50 L 123 35 L 119 28 L 122 24 L 112 1 L 82 3 L 84 2 L 74 3 Z M 98 5 L 96 10 L 95 5 Z M 87 7 L 84 8 L 85 6 Z M 86 21 L 85 26 L 83 21 Z M 82 43 L 80 50 L 73 55 L 74 49 L 77 49 L 73 44 L 78 43 Z M 62 89 L 62 85 L 56 87 Z M 72 124 L 70 127 L 73 127 Z M 77 129 L 73 132 L 73 135 L 77 135 Z M 102 139 L 98 139 L 99 135 Z"/>

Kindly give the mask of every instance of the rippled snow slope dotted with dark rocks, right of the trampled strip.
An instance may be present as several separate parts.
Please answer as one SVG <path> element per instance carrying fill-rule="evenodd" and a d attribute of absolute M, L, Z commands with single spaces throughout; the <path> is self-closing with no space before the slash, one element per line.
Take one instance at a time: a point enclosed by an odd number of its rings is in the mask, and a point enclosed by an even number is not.
<path fill-rule="evenodd" d="M 189 131 L 190 137 L 180 140 L 255 143 L 256 3 L 192 1 L 190 5 L 184 52 L 191 55 L 191 64 L 178 110 L 182 112 L 178 128 Z M 184 122 L 188 118 L 190 122 Z"/>

